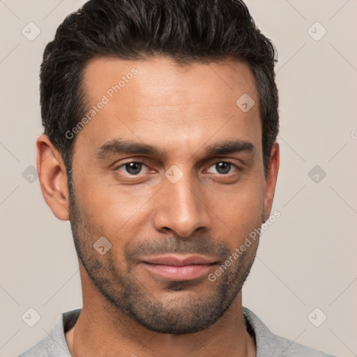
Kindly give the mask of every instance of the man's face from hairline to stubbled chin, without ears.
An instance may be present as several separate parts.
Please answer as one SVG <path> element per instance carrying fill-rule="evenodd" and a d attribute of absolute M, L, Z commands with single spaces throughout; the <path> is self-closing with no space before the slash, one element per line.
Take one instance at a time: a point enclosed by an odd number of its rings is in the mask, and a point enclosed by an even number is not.
<path fill-rule="evenodd" d="M 214 282 L 208 275 L 261 226 L 264 212 L 250 69 L 101 58 L 86 66 L 84 86 L 96 114 L 75 137 L 70 222 L 86 273 L 146 328 L 207 328 L 241 290 L 257 241 Z M 248 112 L 236 105 L 245 93 L 255 100 Z"/>

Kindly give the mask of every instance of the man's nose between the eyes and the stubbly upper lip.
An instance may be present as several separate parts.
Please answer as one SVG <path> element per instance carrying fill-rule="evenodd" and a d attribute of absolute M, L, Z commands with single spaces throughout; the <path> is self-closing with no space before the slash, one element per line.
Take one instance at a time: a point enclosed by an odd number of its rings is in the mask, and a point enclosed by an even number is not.
<path fill-rule="evenodd" d="M 176 183 L 163 178 L 162 188 L 155 195 L 153 224 L 162 233 L 175 233 L 188 237 L 199 229 L 211 228 L 210 209 L 205 201 L 200 183 L 190 179 L 189 174 Z M 202 183 L 201 183 L 202 185 Z"/>

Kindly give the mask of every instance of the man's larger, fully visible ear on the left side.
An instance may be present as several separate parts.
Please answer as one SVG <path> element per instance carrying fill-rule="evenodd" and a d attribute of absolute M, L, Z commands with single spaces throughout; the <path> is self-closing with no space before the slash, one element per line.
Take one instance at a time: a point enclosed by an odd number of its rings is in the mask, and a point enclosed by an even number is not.
<path fill-rule="evenodd" d="M 43 198 L 59 220 L 69 219 L 66 167 L 59 151 L 47 135 L 38 137 L 37 171 Z"/>

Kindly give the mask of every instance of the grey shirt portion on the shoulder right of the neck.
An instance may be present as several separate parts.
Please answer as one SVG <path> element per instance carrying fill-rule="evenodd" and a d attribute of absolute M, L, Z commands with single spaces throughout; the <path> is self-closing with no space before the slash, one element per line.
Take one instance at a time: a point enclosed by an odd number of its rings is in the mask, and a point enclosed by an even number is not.
<path fill-rule="evenodd" d="M 275 335 L 254 312 L 246 307 L 243 307 L 243 315 L 250 329 L 255 333 L 257 357 L 334 357 L 331 354 L 317 351 L 317 349 Z"/>

